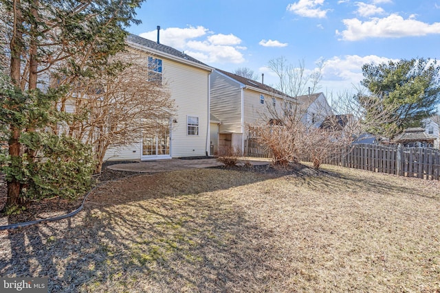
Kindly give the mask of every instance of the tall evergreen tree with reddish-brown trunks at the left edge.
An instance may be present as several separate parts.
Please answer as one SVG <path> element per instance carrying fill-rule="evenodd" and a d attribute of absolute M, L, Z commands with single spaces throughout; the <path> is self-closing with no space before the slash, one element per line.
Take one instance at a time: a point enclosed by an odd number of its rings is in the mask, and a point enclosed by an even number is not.
<path fill-rule="evenodd" d="M 56 113 L 56 103 L 63 99 L 65 86 L 77 78 L 91 78 L 107 65 L 109 56 L 124 49 L 124 27 L 138 22 L 135 9 L 142 1 L 0 0 L 0 11 L 4 12 L 0 28 L 6 39 L 0 44 L 9 75 L 1 78 L 0 93 L 0 123 L 8 141 L 3 164 L 8 183 L 6 207 L 19 204 L 32 186 L 50 182 L 35 176 L 43 167 L 35 165 L 40 154 L 52 156 L 54 162 L 70 162 L 67 145 L 78 150 L 71 155 L 87 152 L 80 143 L 63 139 L 56 132 L 52 134 L 58 139 L 47 134 L 48 129 L 56 129 L 60 119 L 68 119 Z M 54 79 L 58 80 L 56 89 L 50 89 Z M 61 146 L 65 152 L 57 151 Z M 63 178 L 61 172 L 69 172 L 69 168 L 52 172 L 59 172 L 58 177 Z"/>

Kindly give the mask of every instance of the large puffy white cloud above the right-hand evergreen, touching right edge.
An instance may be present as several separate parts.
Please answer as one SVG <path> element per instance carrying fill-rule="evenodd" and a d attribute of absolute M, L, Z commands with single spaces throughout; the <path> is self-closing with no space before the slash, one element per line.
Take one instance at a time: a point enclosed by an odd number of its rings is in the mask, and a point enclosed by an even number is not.
<path fill-rule="evenodd" d="M 346 30 L 336 34 L 341 40 L 362 40 L 364 38 L 401 38 L 404 36 L 426 36 L 440 34 L 440 23 L 423 23 L 415 16 L 404 19 L 398 14 L 391 14 L 383 19 L 373 18 L 362 22 L 359 19 L 344 19 Z"/>

